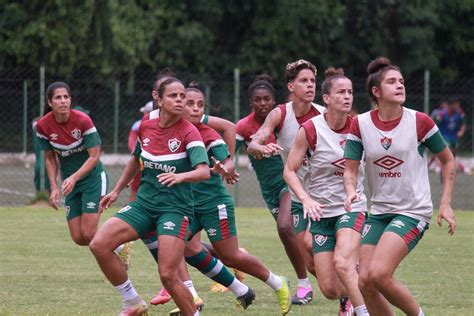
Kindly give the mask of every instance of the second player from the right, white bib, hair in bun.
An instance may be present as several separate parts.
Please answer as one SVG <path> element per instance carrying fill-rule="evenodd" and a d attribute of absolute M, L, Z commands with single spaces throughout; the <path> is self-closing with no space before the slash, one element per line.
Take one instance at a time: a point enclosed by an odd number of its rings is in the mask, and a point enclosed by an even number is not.
<path fill-rule="evenodd" d="M 356 271 L 367 211 L 362 177 L 356 188 L 359 201 L 351 212 L 344 210 L 343 156 L 352 121 L 352 82 L 340 68 L 328 68 L 325 76 L 321 90 L 327 112 L 303 123 L 288 155 L 284 177 L 303 203 L 304 217 L 312 219 L 314 267 L 321 292 L 332 300 L 349 296 L 355 310 L 349 301 L 342 300 L 339 315 L 368 315 Z M 308 152 L 305 189 L 296 172 Z"/>

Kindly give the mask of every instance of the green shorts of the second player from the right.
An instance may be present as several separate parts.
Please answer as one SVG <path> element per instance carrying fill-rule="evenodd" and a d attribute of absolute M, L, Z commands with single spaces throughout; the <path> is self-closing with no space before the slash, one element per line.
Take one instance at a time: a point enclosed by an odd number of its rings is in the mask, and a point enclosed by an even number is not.
<path fill-rule="evenodd" d="M 337 231 L 341 228 L 351 228 L 360 233 L 366 218 L 365 212 L 351 212 L 339 216 L 322 218 L 311 221 L 313 239 L 313 254 L 334 251 L 336 248 Z"/>

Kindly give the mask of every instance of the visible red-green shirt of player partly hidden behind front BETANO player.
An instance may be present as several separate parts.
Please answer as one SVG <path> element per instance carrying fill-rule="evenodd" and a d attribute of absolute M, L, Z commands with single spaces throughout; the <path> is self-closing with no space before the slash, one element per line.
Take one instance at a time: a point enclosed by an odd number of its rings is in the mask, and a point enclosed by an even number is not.
<path fill-rule="evenodd" d="M 219 161 L 224 161 L 229 158 L 229 149 L 215 130 L 203 123 L 198 123 L 196 127 L 204 141 L 204 146 L 206 146 L 207 156 L 211 167 L 213 166 L 211 157 L 214 157 Z M 195 211 L 199 213 L 205 211 L 215 212 L 216 205 L 220 204 L 220 201 L 232 200 L 232 197 L 225 188 L 224 183 L 222 183 L 221 176 L 214 172 L 211 172 L 211 178 L 209 180 L 193 183 L 191 187 L 194 195 Z M 210 202 L 214 204 L 214 207 L 206 207 Z"/>

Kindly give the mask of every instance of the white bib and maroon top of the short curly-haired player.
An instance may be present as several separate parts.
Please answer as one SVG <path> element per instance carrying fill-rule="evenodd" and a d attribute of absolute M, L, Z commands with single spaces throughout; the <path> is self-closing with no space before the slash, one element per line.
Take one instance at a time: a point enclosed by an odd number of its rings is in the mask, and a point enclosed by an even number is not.
<path fill-rule="evenodd" d="M 283 148 L 281 151 L 283 162 L 286 162 L 288 159 L 288 154 L 290 153 L 291 146 L 293 146 L 293 143 L 295 142 L 296 134 L 298 133 L 300 125 L 310 118 L 313 118 L 326 111 L 326 108 L 319 104 L 312 103 L 312 105 L 313 108 L 301 118 L 296 117 L 295 112 L 293 111 L 293 102 L 288 102 L 278 106 L 281 110 L 282 116 L 278 126 L 277 144 Z M 304 180 L 304 177 L 306 175 L 307 169 L 307 166 L 302 165 L 301 168 L 296 172 L 296 175 L 303 184 L 303 187 L 305 187 L 306 181 Z M 293 201 L 300 202 L 291 189 L 290 194 Z"/>

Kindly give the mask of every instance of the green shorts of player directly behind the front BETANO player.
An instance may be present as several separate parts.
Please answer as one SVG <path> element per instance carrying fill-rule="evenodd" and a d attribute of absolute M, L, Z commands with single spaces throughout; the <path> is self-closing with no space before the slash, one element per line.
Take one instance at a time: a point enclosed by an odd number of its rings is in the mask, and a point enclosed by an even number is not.
<path fill-rule="evenodd" d="M 213 212 L 209 210 L 214 209 Z M 190 237 L 199 231 L 205 230 L 211 242 L 228 239 L 237 235 L 235 226 L 234 203 L 230 200 L 227 203 L 218 205 L 194 208 L 194 218 L 189 227 Z"/>

